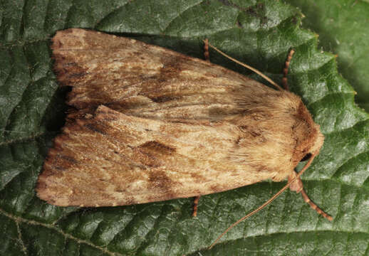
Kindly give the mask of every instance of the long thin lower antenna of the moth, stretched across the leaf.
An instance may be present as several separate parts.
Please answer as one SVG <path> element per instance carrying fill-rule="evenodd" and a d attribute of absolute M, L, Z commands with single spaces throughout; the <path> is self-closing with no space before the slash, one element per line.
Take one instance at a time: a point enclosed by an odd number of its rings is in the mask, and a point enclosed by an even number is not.
<path fill-rule="evenodd" d="M 303 169 L 301 171 L 299 171 L 298 174 L 296 174 L 296 176 L 294 178 L 292 178 L 291 181 L 289 181 L 289 183 L 286 184 L 286 186 L 284 186 L 283 188 L 281 188 L 280 191 L 278 191 L 277 193 L 274 194 L 274 196 L 272 196 L 271 198 L 269 198 L 268 201 L 266 201 L 265 203 L 263 203 L 261 206 L 259 206 L 255 210 L 251 211 L 251 213 L 247 214 L 246 216 L 240 218 L 235 223 L 233 223 L 232 225 L 230 225 L 227 228 L 227 230 L 225 230 L 221 235 L 219 235 L 219 237 L 212 243 L 212 245 L 210 245 L 209 250 L 212 249 L 212 247 L 214 247 L 215 244 L 217 244 L 217 242 L 220 240 L 220 238 L 223 237 L 223 235 L 227 234 L 229 230 L 231 230 L 232 228 L 234 228 L 235 225 L 238 225 L 241 221 L 246 220 L 246 218 L 249 218 L 251 215 L 254 215 L 255 213 L 259 212 L 259 210 L 261 210 L 265 206 L 268 206 L 269 203 L 271 203 L 272 201 L 274 201 L 274 199 L 276 199 L 281 193 L 283 193 L 287 188 L 289 188 L 289 186 L 291 185 L 291 183 L 293 183 L 293 181 L 296 181 L 296 179 L 300 178 L 300 176 L 303 174 L 303 172 L 306 169 L 308 169 L 308 166 L 311 165 L 311 163 L 313 162 L 313 159 L 314 159 L 315 156 L 316 156 L 316 154 L 313 154 L 311 156 L 311 158 L 308 160 L 308 162 L 306 163 L 306 165 L 303 166 Z"/>

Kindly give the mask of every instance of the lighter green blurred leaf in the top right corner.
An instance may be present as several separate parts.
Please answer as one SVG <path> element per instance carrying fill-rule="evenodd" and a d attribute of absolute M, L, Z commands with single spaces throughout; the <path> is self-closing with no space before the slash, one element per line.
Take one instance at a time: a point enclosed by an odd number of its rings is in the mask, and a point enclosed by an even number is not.
<path fill-rule="evenodd" d="M 319 34 L 323 50 L 338 55 L 338 70 L 358 92 L 355 101 L 369 112 L 369 1 L 286 1 L 305 14 L 303 27 Z"/>

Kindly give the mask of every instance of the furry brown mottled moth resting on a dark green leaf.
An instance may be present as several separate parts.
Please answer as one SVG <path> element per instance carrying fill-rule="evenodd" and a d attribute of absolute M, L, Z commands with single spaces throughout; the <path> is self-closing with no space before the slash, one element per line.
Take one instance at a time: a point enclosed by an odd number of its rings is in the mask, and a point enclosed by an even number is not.
<path fill-rule="evenodd" d="M 289 178 L 316 208 L 294 168 L 311 163 L 324 137 L 300 97 L 130 38 L 72 28 L 52 41 L 73 110 L 48 151 L 39 198 L 125 206 Z"/>

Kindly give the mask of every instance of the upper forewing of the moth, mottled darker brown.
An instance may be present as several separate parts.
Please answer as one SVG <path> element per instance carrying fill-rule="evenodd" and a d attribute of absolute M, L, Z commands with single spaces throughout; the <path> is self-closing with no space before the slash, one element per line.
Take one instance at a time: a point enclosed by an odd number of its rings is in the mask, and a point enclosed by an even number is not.
<path fill-rule="evenodd" d="M 275 90 L 219 65 L 96 31 L 68 29 L 53 38 L 58 81 L 73 87 L 68 104 L 105 105 L 138 117 L 222 119 L 244 111 L 244 95 Z"/>

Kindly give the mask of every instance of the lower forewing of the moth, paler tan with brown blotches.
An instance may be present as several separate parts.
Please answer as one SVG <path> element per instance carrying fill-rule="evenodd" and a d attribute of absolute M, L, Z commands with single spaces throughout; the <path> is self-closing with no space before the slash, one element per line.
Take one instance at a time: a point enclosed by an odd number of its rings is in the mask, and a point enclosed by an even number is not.
<path fill-rule="evenodd" d="M 229 164 L 239 137 L 229 124 L 204 126 L 132 117 L 100 106 L 63 128 L 38 179 L 57 206 L 120 206 L 224 191 L 270 176 Z M 250 173 L 251 174 L 251 173 Z"/>

